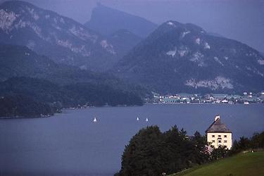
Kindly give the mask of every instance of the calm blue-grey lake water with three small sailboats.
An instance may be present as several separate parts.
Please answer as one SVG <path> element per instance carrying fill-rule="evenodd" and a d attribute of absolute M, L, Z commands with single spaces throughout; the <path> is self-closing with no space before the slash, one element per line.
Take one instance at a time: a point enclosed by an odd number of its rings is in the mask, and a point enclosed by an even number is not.
<path fill-rule="evenodd" d="M 204 134 L 218 113 L 235 139 L 264 130 L 264 104 L 149 104 L 0 120 L 0 175 L 113 175 L 125 144 L 142 127 L 177 125 Z"/>

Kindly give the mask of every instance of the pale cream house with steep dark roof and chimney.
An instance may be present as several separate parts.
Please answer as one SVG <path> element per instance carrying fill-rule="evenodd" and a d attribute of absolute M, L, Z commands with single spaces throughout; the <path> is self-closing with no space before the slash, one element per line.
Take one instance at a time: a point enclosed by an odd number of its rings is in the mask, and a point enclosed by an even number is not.
<path fill-rule="evenodd" d="M 219 146 L 232 147 L 232 132 L 220 120 L 220 115 L 215 116 L 214 122 L 206 130 L 207 142 L 215 149 Z"/>

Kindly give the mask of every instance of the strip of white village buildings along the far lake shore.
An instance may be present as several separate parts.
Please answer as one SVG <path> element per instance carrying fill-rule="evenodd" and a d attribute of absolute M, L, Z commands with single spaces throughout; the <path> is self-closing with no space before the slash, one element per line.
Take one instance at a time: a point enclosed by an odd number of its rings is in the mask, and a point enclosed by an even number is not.
<path fill-rule="evenodd" d="M 234 94 L 154 94 L 153 103 L 264 103 L 264 92 L 253 94 L 244 92 L 242 95 Z"/>

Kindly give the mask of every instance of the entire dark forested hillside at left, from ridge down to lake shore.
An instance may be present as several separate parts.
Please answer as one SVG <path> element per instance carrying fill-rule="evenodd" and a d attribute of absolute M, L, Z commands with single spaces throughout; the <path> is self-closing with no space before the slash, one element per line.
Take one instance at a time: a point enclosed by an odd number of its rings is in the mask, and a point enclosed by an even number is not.
<path fill-rule="evenodd" d="M 26 46 L 0 44 L 0 116 L 52 115 L 84 105 L 142 105 L 148 92 L 113 75 L 54 63 Z"/>

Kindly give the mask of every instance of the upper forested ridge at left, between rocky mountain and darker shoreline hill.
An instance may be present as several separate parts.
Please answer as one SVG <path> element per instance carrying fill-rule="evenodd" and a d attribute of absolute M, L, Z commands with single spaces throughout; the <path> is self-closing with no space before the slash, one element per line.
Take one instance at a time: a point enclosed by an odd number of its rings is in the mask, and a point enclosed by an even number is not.
<path fill-rule="evenodd" d="M 34 77 L 60 85 L 106 84 L 113 89 L 140 92 L 142 96 L 146 93 L 142 87 L 126 84 L 113 75 L 81 70 L 70 65 L 58 65 L 46 56 L 39 56 L 25 46 L 0 44 L 0 81 L 11 77 Z"/>

